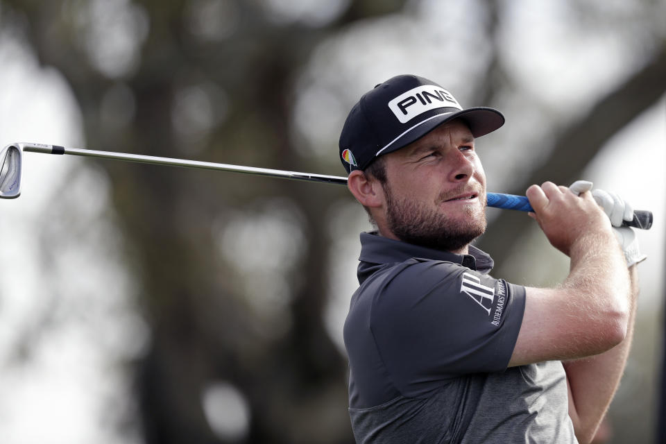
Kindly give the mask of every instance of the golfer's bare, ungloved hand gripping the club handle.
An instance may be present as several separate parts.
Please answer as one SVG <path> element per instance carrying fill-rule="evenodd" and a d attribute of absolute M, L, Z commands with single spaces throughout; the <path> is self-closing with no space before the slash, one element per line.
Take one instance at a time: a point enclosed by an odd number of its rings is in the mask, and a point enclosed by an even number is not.
<path fill-rule="evenodd" d="M 608 217 L 586 191 L 592 184 L 579 182 L 574 183 L 574 189 L 580 195 L 553 182 L 527 189 L 527 198 L 534 209 L 530 216 L 539 223 L 550 243 L 567 256 L 571 256 L 572 246 L 584 237 L 610 234 Z"/>

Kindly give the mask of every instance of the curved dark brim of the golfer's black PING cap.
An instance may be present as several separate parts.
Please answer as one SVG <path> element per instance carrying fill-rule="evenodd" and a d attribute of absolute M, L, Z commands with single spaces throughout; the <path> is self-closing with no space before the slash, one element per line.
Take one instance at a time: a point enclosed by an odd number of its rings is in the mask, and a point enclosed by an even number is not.
<path fill-rule="evenodd" d="M 447 112 L 432 117 L 420 125 L 411 128 L 407 133 L 400 135 L 400 137 L 393 140 L 391 144 L 388 144 L 384 149 L 379 151 L 377 155 L 384 155 L 397 151 L 412 142 L 416 142 L 416 140 L 427 135 L 427 133 L 434 130 L 442 123 L 453 119 L 461 119 L 465 121 L 467 126 L 470 127 L 470 131 L 474 137 L 481 137 L 488 133 L 492 133 L 504 125 L 504 115 L 494 108 L 477 107 L 468 108 L 467 110 L 459 112 Z"/>

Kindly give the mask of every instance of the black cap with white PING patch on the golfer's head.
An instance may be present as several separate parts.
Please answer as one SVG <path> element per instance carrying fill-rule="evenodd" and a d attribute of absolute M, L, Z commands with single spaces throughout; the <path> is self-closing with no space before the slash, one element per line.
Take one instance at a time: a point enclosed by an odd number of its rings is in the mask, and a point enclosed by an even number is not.
<path fill-rule="evenodd" d="M 504 125 L 493 108 L 463 110 L 453 94 L 432 80 L 402 75 L 366 92 L 347 116 L 340 135 L 340 157 L 347 173 L 366 169 L 375 158 L 391 153 L 452 119 L 463 119 L 474 137 Z"/>

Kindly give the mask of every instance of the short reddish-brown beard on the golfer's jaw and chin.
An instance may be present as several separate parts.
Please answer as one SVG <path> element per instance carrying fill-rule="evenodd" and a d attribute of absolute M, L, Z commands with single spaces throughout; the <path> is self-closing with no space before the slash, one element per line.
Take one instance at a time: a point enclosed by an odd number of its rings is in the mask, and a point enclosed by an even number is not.
<path fill-rule="evenodd" d="M 391 189 L 384 188 L 386 194 L 386 222 L 388 228 L 401 241 L 408 244 L 456 252 L 468 246 L 486 231 L 486 194 L 479 193 L 481 208 L 468 205 L 464 209 L 467 216 L 463 221 L 453 220 L 436 208 L 410 198 L 395 198 Z M 456 191 L 454 191 L 455 193 Z M 438 201 L 446 200 L 440 196 Z"/>

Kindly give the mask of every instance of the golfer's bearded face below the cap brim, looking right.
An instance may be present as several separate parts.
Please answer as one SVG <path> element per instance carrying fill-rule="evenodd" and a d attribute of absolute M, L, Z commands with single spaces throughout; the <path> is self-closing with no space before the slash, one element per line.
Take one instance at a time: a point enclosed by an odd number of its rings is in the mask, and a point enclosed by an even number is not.
<path fill-rule="evenodd" d="M 486 174 L 468 126 L 444 123 L 385 157 L 385 235 L 466 253 L 486 230 Z"/>

